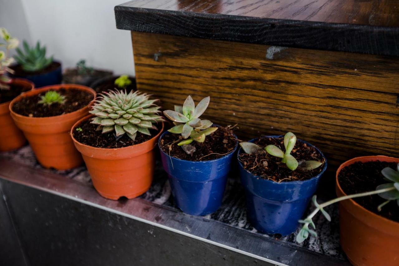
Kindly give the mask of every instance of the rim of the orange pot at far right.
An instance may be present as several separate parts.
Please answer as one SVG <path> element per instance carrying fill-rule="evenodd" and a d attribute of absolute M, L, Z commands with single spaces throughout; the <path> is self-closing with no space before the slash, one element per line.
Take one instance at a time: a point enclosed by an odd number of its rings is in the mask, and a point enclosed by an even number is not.
<path fill-rule="evenodd" d="M 336 194 L 338 194 L 337 192 L 339 191 L 343 196 L 346 196 L 346 195 L 347 195 L 347 194 L 342 190 L 342 188 L 341 188 L 341 186 L 340 186 L 340 183 L 338 182 L 338 174 L 340 173 L 340 171 L 341 171 L 344 167 L 346 167 L 346 166 L 348 166 L 348 165 L 352 165 L 352 164 L 354 164 L 354 163 L 356 163 L 356 162 L 358 162 L 358 161 L 361 161 L 361 159 L 370 159 L 370 160 L 368 160 L 367 162 L 371 162 L 371 161 L 377 161 L 377 160 L 378 160 L 378 161 L 382 161 L 383 159 L 387 159 L 387 158 L 389 158 L 389 159 L 395 159 L 395 160 L 397 160 L 398 163 L 399 163 L 399 159 L 398 159 L 398 158 L 389 157 L 389 156 L 385 156 L 385 155 L 360 156 L 360 157 L 355 157 L 355 158 L 353 158 L 353 159 L 350 159 L 350 160 L 348 160 L 348 161 L 342 163 L 342 164 L 340 165 L 340 167 L 338 167 L 337 172 L 336 172 L 336 177 L 335 177 Z M 373 160 L 373 159 L 375 159 L 375 160 Z M 381 160 L 380 160 L 380 159 L 381 159 Z M 337 196 L 338 196 L 338 195 L 337 195 Z M 340 196 L 338 196 L 338 197 L 340 197 Z M 369 214 L 369 215 L 371 215 L 371 216 L 374 216 L 374 217 L 377 218 L 377 219 L 382 219 L 382 220 L 385 220 L 385 222 L 389 222 L 389 223 L 395 224 L 395 226 L 399 226 L 399 222 L 395 222 L 395 221 L 389 220 L 388 218 L 385 218 L 385 217 L 383 217 L 383 216 L 381 216 L 381 215 L 375 214 L 374 212 L 372 212 L 372 211 L 370 211 L 370 210 L 367 210 L 366 208 L 364 208 L 363 206 L 361 206 L 360 204 L 358 204 L 358 203 L 357 203 L 356 201 L 354 201 L 353 199 L 349 199 L 349 200 L 346 200 L 346 201 L 352 203 L 353 205 L 355 205 L 356 207 L 358 207 L 359 209 L 361 209 L 363 212 L 365 212 L 365 213 L 367 213 L 367 214 Z M 340 202 L 340 203 L 343 203 L 343 202 Z"/>

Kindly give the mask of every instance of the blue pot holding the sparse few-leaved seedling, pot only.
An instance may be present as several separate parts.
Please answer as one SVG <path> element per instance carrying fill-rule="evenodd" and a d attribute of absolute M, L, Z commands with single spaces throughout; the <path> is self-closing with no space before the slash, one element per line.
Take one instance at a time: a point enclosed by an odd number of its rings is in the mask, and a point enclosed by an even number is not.
<path fill-rule="evenodd" d="M 268 136 L 272 138 L 283 136 Z M 250 142 L 255 141 L 252 139 Z M 312 146 L 306 141 L 308 146 Z M 324 167 L 320 174 L 305 181 L 273 182 L 262 179 L 245 170 L 239 161 L 241 183 L 245 187 L 247 198 L 247 216 L 251 224 L 266 234 L 291 234 L 298 228 L 309 200 L 316 192 L 320 177 L 327 169 L 326 157 L 314 147 L 324 158 Z M 239 156 L 242 149 L 237 154 Z"/>

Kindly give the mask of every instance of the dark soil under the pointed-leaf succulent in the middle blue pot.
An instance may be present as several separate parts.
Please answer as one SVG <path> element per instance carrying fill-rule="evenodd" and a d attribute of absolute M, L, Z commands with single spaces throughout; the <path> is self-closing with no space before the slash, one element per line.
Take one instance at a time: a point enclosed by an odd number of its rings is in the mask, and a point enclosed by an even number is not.
<path fill-rule="evenodd" d="M 178 146 L 177 143 L 182 140 L 180 134 L 166 134 L 160 141 L 161 149 L 166 154 L 181 160 L 209 161 L 231 153 L 237 145 L 237 139 L 233 135 L 233 130 L 229 127 L 219 127 L 211 135 L 206 136 L 203 143 L 193 141 L 190 145 Z M 193 148 L 195 148 L 195 151 L 191 154 L 186 152 L 188 150 L 193 151 Z"/>

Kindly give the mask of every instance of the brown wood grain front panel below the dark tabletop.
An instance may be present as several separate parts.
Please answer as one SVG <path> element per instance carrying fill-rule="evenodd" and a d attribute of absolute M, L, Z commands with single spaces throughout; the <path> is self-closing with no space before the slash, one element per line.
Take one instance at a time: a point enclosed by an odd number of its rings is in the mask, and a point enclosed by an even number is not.
<path fill-rule="evenodd" d="M 132 42 L 138 89 L 165 109 L 209 95 L 204 117 L 238 123 L 242 140 L 292 131 L 330 171 L 356 156 L 399 157 L 398 58 L 138 32 Z"/>

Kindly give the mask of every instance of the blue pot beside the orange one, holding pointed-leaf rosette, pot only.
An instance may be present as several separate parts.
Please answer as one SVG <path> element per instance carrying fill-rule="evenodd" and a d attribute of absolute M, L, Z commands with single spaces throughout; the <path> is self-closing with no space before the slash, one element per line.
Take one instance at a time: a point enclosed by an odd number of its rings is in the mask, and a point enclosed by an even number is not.
<path fill-rule="evenodd" d="M 159 141 L 166 134 L 170 133 L 164 132 Z M 231 153 L 219 159 L 198 162 L 171 157 L 160 149 L 162 165 L 168 173 L 172 194 L 180 210 L 203 216 L 220 207 L 237 145 Z"/>

